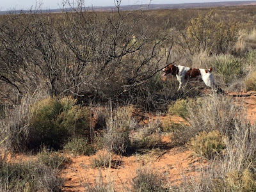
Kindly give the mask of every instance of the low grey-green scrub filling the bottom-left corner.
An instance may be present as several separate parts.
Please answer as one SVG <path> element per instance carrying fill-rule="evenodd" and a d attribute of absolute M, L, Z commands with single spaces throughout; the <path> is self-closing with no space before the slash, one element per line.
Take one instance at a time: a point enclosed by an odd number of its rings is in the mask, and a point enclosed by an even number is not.
<path fill-rule="evenodd" d="M 4 163 L 0 167 L 0 191 L 60 191 L 63 180 L 57 173 L 40 163 Z"/>

